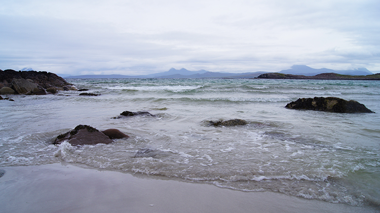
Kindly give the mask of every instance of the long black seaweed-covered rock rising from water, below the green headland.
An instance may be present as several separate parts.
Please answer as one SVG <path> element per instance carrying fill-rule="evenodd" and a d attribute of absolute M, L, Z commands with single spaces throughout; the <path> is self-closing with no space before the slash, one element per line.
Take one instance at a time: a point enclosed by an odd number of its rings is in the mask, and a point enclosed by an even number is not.
<path fill-rule="evenodd" d="M 285 107 L 288 109 L 306 109 L 315 111 L 343 113 L 372 112 L 367 107 L 365 107 L 364 104 L 361 104 L 357 101 L 347 101 L 335 97 L 299 98 L 296 101 L 288 103 Z"/>

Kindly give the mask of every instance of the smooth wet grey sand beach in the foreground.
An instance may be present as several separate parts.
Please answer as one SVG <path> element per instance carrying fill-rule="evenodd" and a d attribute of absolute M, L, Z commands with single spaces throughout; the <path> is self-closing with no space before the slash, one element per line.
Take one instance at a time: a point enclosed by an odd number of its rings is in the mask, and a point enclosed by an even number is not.
<path fill-rule="evenodd" d="M 211 184 L 53 163 L 0 167 L 2 212 L 375 212 L 274 192 L 243 192 Z"/>

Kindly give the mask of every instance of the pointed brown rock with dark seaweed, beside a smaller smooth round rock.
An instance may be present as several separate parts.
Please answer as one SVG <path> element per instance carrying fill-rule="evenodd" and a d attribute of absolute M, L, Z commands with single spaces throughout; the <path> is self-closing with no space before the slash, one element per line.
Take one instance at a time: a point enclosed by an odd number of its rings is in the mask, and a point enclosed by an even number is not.
<path fill-rule="evenodd" d="M 76 126 L 74 130 L 59 135 L 53 144 L 60 144 L 65 140 L 74 146 L 112 143 L 108 136 L 89 125 Z"/>

